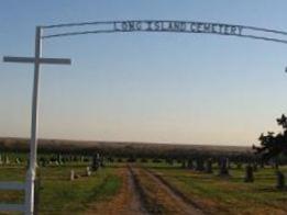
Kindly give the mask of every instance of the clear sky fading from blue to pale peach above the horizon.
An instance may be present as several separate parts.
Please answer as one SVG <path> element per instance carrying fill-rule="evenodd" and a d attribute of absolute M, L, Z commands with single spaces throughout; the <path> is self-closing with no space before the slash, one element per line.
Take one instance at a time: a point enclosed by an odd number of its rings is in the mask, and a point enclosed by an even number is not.
<path fill-rule="evenodd" d="M 32 56 L 35 25 L 188 20 L 287 31 L 286 0 L 0 2 L 0 57 Z M 44 42 L 40 137 L 251 145 L 286 113 L 287 45 L 207 34 L 126 33 Z M 0 63 L 0 136 L 30 136 L 32 65 Z"/>

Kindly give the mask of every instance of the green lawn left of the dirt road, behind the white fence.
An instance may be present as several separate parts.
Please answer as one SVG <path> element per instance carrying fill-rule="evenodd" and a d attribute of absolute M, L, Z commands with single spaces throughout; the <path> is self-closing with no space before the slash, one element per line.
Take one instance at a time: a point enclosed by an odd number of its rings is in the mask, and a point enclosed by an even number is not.
<path fill-rule="evenodd" d="M 103 168 L 91 177 L 69 180 L 69 172 L 85 174 L 86 166 L 45 167 L 41 173 L 41 214 L 81 214 L 92 202 L 109 201 L 120 189 L 121 178 L 113 168 Z M 0 167 L 0 181 L 24 181 L 24 167 Z M 1 203 L 23 203 L 24 192 L 1 191 Z"/>

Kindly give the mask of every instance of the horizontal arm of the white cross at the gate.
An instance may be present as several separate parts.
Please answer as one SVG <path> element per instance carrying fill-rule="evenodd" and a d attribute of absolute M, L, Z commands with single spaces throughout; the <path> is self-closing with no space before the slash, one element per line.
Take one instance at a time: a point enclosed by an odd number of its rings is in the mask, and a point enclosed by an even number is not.
<path fill-rule="evenodd" d="M 35 63 L 34 57 L 11 57 L 4 56 L 4 63 Z M 69 58 L 40 58 L 40 64 L 70 65 Z"/>

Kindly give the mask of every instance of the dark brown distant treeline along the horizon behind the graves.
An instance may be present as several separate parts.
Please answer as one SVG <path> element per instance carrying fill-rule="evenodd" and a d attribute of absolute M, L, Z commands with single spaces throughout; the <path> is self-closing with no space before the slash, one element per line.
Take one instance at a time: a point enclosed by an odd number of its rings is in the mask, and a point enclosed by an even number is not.
<path fill-rule="evenodd" d="M 1 151 L 27 152 L 29 139 L 0 138 Z M 74 154 L 95 155 L 99 152 L 111 157 L 135 158 L 175 158 L 188 159 L 190 157 L 254 157 L 251 147 L 238 146 L 206 146 L 206 145 L 176 145 L 128 142 L 84 142 L 65 139 L 40 139 L 41 154 Z"/>

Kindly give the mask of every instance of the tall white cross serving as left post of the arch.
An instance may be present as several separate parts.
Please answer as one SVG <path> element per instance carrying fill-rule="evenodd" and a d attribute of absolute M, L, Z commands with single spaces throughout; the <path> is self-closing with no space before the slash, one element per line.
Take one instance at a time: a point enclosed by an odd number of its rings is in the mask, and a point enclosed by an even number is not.
<path fill-rule="evenodd" d="M 35 57 L 3 57 L 5 63 L 30 63 L 34 64 L 34 83 L 32 99 L 32 123 L 31 123 L 31 143 L 30 143 L 30 168 L 26 174 L 25 188 L 25 214 L 34 214 L 34 182 L 36 176 L 36 154 L 37 154 L 37 113 L 38 113 L 38 80 L 41 64 L 70 65 L 67 58 L 43 58 L 42 56 L 42 29 L 36 27 L 35 35 Z"/>

